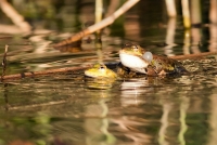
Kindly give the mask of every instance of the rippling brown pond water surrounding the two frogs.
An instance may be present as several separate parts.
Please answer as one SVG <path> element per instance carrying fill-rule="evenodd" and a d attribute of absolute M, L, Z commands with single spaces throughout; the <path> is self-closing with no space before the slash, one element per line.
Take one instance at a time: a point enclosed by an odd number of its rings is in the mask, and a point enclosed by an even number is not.
<path fill-rule="evenodd" d="M 101 49 L 93 35 L 81 47 L 52 47 L 94 22 L 92 1 L 43 2 L 29 0 L 25 9 L 13 3 L 35 29 L 0 34 L 1 58 L 9 44 L 7 75 L 97 62 L 114 66 L 125 42 L 169 56 L 217 50 L 216 25 L 207 24 L 208 2 L 202 3 L 204 25 L 184 30 L 180 3 L 177 18 L 168 19 L 163 0 L 140 1 L 103 30 Z M 0 88 L 0 145 L 215 145 L 216 55 L 182 63 L 195 72 L 99 82 L 80 69 L 5 80 Z"/>

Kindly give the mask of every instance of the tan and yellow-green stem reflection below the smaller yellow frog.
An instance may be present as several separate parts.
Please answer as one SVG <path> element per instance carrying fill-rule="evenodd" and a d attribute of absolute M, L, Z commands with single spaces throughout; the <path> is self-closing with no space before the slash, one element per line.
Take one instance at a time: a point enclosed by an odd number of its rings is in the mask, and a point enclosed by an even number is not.
<path fill-rule="evenodd" d="M 100 91 L 101 98 L 98 104 L 90 104 L 86 106 L 85 129 L 87 132 L 87 145 L 112 145 L 115 143 L 115 136 L 108 132 L 110 120 L 107 118 L 106 93 Z M 105 94 L 104 94 L 105 93 Z"/>

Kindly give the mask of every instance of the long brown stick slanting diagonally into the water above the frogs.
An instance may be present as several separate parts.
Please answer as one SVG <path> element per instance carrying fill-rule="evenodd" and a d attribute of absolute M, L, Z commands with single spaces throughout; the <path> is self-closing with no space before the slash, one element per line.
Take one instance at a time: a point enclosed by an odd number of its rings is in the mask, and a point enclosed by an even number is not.
<path fill-rule="evenodd" d="M 128 0 L 126 1 L 116 12 L 114 12 L 112 15 L 110 15 L 108 17 L 102 19 L 101 22 L 88 27 L 87 29 L 75 34 L 73 37 L 61 41 L 56 44 L 54 44 L 54 48 L 58 47 L 63 47 L 69 43 L 73 43 L 75 41 L 80 40 L 82 37 L 90 35 L 97 30 L 100 30 L 108 25 L 111 25 L 117 17 L 119 17 L 122 14 L 124 14 L 126 11 L 128 11 L 130 8 L 132 8 L 137 2 L 139 2 L 139 0 Z"/>

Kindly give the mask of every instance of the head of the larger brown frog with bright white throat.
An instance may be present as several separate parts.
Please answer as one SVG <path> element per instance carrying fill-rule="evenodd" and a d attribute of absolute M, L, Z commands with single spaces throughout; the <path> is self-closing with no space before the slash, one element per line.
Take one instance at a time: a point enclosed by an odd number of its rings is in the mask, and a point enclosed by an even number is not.
<path fill-rule="evenodd" d="M 124 66 L 146 74 L 146 67 L 151 61 L 149 60 L 150 54 L 148 55 L 149 58 L 145 58 L 146 55 L 144 54 L 146 54 L 146 52 L 140 45 L 125 44 L 124 48 L 119 50 L 119 60 Z"/>

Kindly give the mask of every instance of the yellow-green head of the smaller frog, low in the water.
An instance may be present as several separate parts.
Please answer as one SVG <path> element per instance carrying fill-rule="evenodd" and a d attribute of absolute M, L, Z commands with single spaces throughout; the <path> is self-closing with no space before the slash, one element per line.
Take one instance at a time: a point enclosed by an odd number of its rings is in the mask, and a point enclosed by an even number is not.
<path fill-rule="evenodd" d="M 95 64 L 93 67 L 85 70 L 85 75 L 91 78 L 116 78 L 117 75 L 103 64 Z"/>

